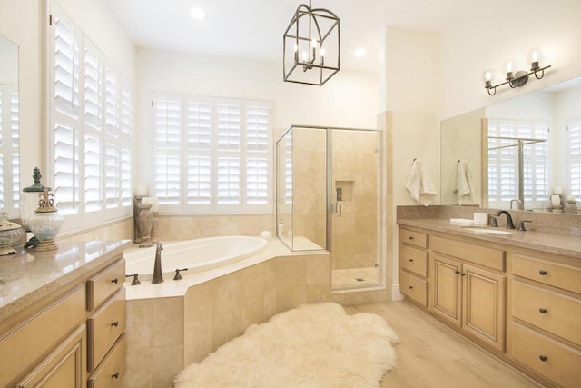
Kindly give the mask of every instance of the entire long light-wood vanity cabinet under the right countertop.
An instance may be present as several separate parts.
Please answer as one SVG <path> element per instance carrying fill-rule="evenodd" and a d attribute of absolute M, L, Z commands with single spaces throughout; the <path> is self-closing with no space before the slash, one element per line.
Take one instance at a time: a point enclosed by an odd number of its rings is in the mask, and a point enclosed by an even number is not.
<path fill-rule="evenodd" d="M 544 386 L 579 386 L 579 258 L 400 224 L 399 280 L 410 303 Z"/>

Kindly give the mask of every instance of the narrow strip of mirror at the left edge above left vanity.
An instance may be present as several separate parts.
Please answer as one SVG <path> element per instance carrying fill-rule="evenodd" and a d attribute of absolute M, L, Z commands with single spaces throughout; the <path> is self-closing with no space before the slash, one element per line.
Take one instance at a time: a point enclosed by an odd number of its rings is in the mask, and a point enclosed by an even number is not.
<path fill-rule="evenodd" d="M 0 209 L 19 215 L 20 104 L 18 45 L 0 34 Z"/>

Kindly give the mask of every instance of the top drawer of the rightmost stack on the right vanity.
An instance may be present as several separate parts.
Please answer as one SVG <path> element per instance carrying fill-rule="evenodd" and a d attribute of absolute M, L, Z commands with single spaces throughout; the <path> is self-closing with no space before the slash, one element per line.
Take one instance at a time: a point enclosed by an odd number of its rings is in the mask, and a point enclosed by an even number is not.
<path fill-rule="evenodd" d="M 512 273 L 563 290 L 581 293 L 581 268 L 515 254 Z"/>

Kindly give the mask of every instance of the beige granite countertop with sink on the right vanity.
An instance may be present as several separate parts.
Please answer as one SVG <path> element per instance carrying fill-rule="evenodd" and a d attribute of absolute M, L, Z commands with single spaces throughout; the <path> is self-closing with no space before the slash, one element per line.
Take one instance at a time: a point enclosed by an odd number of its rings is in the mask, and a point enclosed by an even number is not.
<path fill-rule="evenodd" d="M 513 234 L 480 234 L 470 231 L 473 225 L 451 224 L 449 218 L 398 219 L 398 224 L 416 226 L 429 231 L 472 237 L 477 240 L 534 249 L 550 254 L 563 254 L 581 259 L 581 238 L 569 234 L 510 230 Z M 484 228 L 487 228 L 484 226 Z M 494 228 L 506 231 L 506 228 Z"/>

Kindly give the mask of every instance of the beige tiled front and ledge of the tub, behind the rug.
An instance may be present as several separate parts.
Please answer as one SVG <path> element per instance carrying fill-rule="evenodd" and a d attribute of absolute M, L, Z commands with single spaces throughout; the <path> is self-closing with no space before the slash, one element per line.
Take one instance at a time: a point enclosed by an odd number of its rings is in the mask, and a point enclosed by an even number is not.
<path fill-rule="evenodd" d="M 175 374 L 199 362 L 251 323 L 301 303 L 330 301 L 330 254 L 269 249 L 222 268 L 162 284 L 125 284 L 126 387 L 172 387 Z"/>

